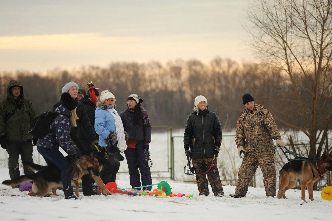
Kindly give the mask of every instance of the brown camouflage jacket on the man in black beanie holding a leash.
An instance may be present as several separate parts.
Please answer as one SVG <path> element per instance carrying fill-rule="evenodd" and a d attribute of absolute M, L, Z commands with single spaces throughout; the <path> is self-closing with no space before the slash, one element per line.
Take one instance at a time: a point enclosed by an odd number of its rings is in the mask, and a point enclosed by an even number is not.
<path fill-rule="evenodd" d="M 280 138 L 276 122 L 263 105 L 255 104 L 252 111 L 246 108 L 237 120 L 235 142 L 237 148 L 244 147 L 246 156 L 274 154 L 272 139 Z"/>

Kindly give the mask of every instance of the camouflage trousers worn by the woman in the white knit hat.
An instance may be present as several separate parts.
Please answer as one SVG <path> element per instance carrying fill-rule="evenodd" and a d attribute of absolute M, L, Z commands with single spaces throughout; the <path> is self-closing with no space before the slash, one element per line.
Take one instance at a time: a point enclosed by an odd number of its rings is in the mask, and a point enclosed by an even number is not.
<path fill-rule="evenodd" d="M 195 173 L 196 174 L 201 174 L 207 171 L 207 169 L 210 167 L 212 158 L 208 159 L 192 159 L 193 161 L 193 166 L 195 168 Z M 207 178 L 206 178 L 207 176 Z M 203 175 L 196 175 L 196 181 L 197 181 L 197 187 L 198 191 L 200 193 L 207 193 L 210 194 L 208 191 L 208 186 L 207 186 L 207 179 L 211 185 L 212 192 L 216 196 L 218 193 L 223 193 L 222 185 L 221 185 L 221 180 L 219 177 L 219 171 L 217 167 L 217 159 L 214 160 L 213 166 L 207 172 L 206 174 Z"/>

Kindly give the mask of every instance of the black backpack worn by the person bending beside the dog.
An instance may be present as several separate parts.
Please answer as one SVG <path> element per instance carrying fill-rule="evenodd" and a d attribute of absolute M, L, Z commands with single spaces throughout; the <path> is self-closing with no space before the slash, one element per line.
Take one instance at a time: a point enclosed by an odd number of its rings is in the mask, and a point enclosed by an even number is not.
<path fill-rule="evenodd" d="M 43 138 L 48 133 L 50 133 L 49 125 L 52 123 L 52 120 L 61 113 L 46 111 L 35 117 L 30 122 L 30 131 L 29 133 L 36 138 Z"/>

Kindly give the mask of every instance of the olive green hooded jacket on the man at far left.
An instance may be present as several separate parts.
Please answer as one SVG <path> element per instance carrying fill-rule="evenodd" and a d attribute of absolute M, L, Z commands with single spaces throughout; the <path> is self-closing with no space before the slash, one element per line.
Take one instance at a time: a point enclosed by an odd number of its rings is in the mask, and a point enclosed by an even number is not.
<path fill-rule="evenodd" d="M 20 86 L 21 93 L 14 99 L 12 87 Z M 17 107 L 17 108 L 16 108 Z M 14 114 L 5 122 L 6 117 Z M 35 118 L 36 111 L 31 101 L 24 97 L 23 85 L 18 80 L 11 80 L 7 87 L 7 97 L 0 102 L 0 137 L 6 136 L 8 141 L 32 140 L 30 121 Z"/>

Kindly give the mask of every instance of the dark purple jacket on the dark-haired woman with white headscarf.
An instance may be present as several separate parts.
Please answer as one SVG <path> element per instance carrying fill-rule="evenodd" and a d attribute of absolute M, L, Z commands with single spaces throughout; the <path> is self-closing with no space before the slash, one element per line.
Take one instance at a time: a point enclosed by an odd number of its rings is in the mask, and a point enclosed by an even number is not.
<path fill-rule="evenodd" d="M 121 112 L 120 117 L 124 125 L 124 131 L 128 133 L 128 139 L 144 141 L 144 143 L 151 142 L 151 125 L 144 125 L 142 118 L 139 124 L 134 125 L 134 113 L 131 113 L 128 109 Z"/>

